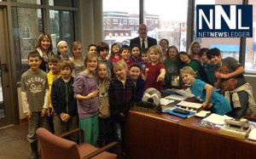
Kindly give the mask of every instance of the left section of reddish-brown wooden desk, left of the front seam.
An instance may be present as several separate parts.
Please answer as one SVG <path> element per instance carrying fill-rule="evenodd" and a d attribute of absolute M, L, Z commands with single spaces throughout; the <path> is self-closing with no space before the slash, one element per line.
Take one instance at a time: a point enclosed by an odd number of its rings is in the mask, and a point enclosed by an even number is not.
<path fill-rule="evenodd" d="M 167 114 L 130 111 L 125 122 L 127 159 L 177 158 L 178 122 L 183 120 Z"/>

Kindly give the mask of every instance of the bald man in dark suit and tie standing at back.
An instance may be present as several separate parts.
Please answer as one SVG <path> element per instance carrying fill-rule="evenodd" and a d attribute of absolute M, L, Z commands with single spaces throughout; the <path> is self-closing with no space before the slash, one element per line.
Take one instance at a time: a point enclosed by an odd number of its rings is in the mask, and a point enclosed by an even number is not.
<path fill-rule="evenodd" d="M 157 44 L 156 39 L 147 36 L 148 29 L 146 25 L 141 24 L 139 26 L 138 33 L 139 33 L 139 37 L 135 37 L 131 39 L 130 48 L 132 45 L 137 44 L 142 50 L 143 48 L 150 48 Z"/>

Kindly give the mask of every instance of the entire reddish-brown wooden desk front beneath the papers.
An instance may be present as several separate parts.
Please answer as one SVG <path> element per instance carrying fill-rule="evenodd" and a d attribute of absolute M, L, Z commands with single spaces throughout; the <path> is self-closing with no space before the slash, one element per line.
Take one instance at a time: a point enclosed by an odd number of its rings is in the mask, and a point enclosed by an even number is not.
<path fill-rule="evenodd" d="M 202 128 L 192 116 L 182 119 L 168 114 L 130 111 L 125 123 L 127 159 L 242 158 L 256 156 L 256 142 Z"/>

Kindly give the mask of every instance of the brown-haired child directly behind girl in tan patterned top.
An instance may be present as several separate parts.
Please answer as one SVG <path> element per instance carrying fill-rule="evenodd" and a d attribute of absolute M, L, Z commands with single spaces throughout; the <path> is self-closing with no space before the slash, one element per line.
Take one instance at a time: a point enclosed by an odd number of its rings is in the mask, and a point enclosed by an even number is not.
<path fill-rule="evenodd" d="M 97 45 L 97 54 L 98 54 L 98 62 L 104 62 L 108 65 L 109 71 L 113 72 L 113 64 L 109 60 L 107 60 L 109 53 L 108 43 L 100 42 Z M 110 77 L 112 75 L 110 74 Z"/>

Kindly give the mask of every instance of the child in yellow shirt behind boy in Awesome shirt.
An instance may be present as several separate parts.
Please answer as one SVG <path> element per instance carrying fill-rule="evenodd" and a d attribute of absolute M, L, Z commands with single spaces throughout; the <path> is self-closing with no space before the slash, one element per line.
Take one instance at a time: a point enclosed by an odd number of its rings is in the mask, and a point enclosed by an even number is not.
<path fill-rule="evenodd" d="M 48 120 L 49 120 L 49 128 L 52 133 L 54 133 L 54 125 L 53 125 L 53 116 L 55 114 L 54 109 L 52 109 L 51 100 L 50 100 L 50 92 L 52 82 L 54 82 L 58 77 L 61 77 L 60 70 L 57 68 L 58 62 L 61 60 L 60 56 L 57 54 L 52 54 L 49 56 L 48 67 L 49 72 L 47 73 L 47 81 L 49 85 L 49 110 L 48 110 Z"/>

